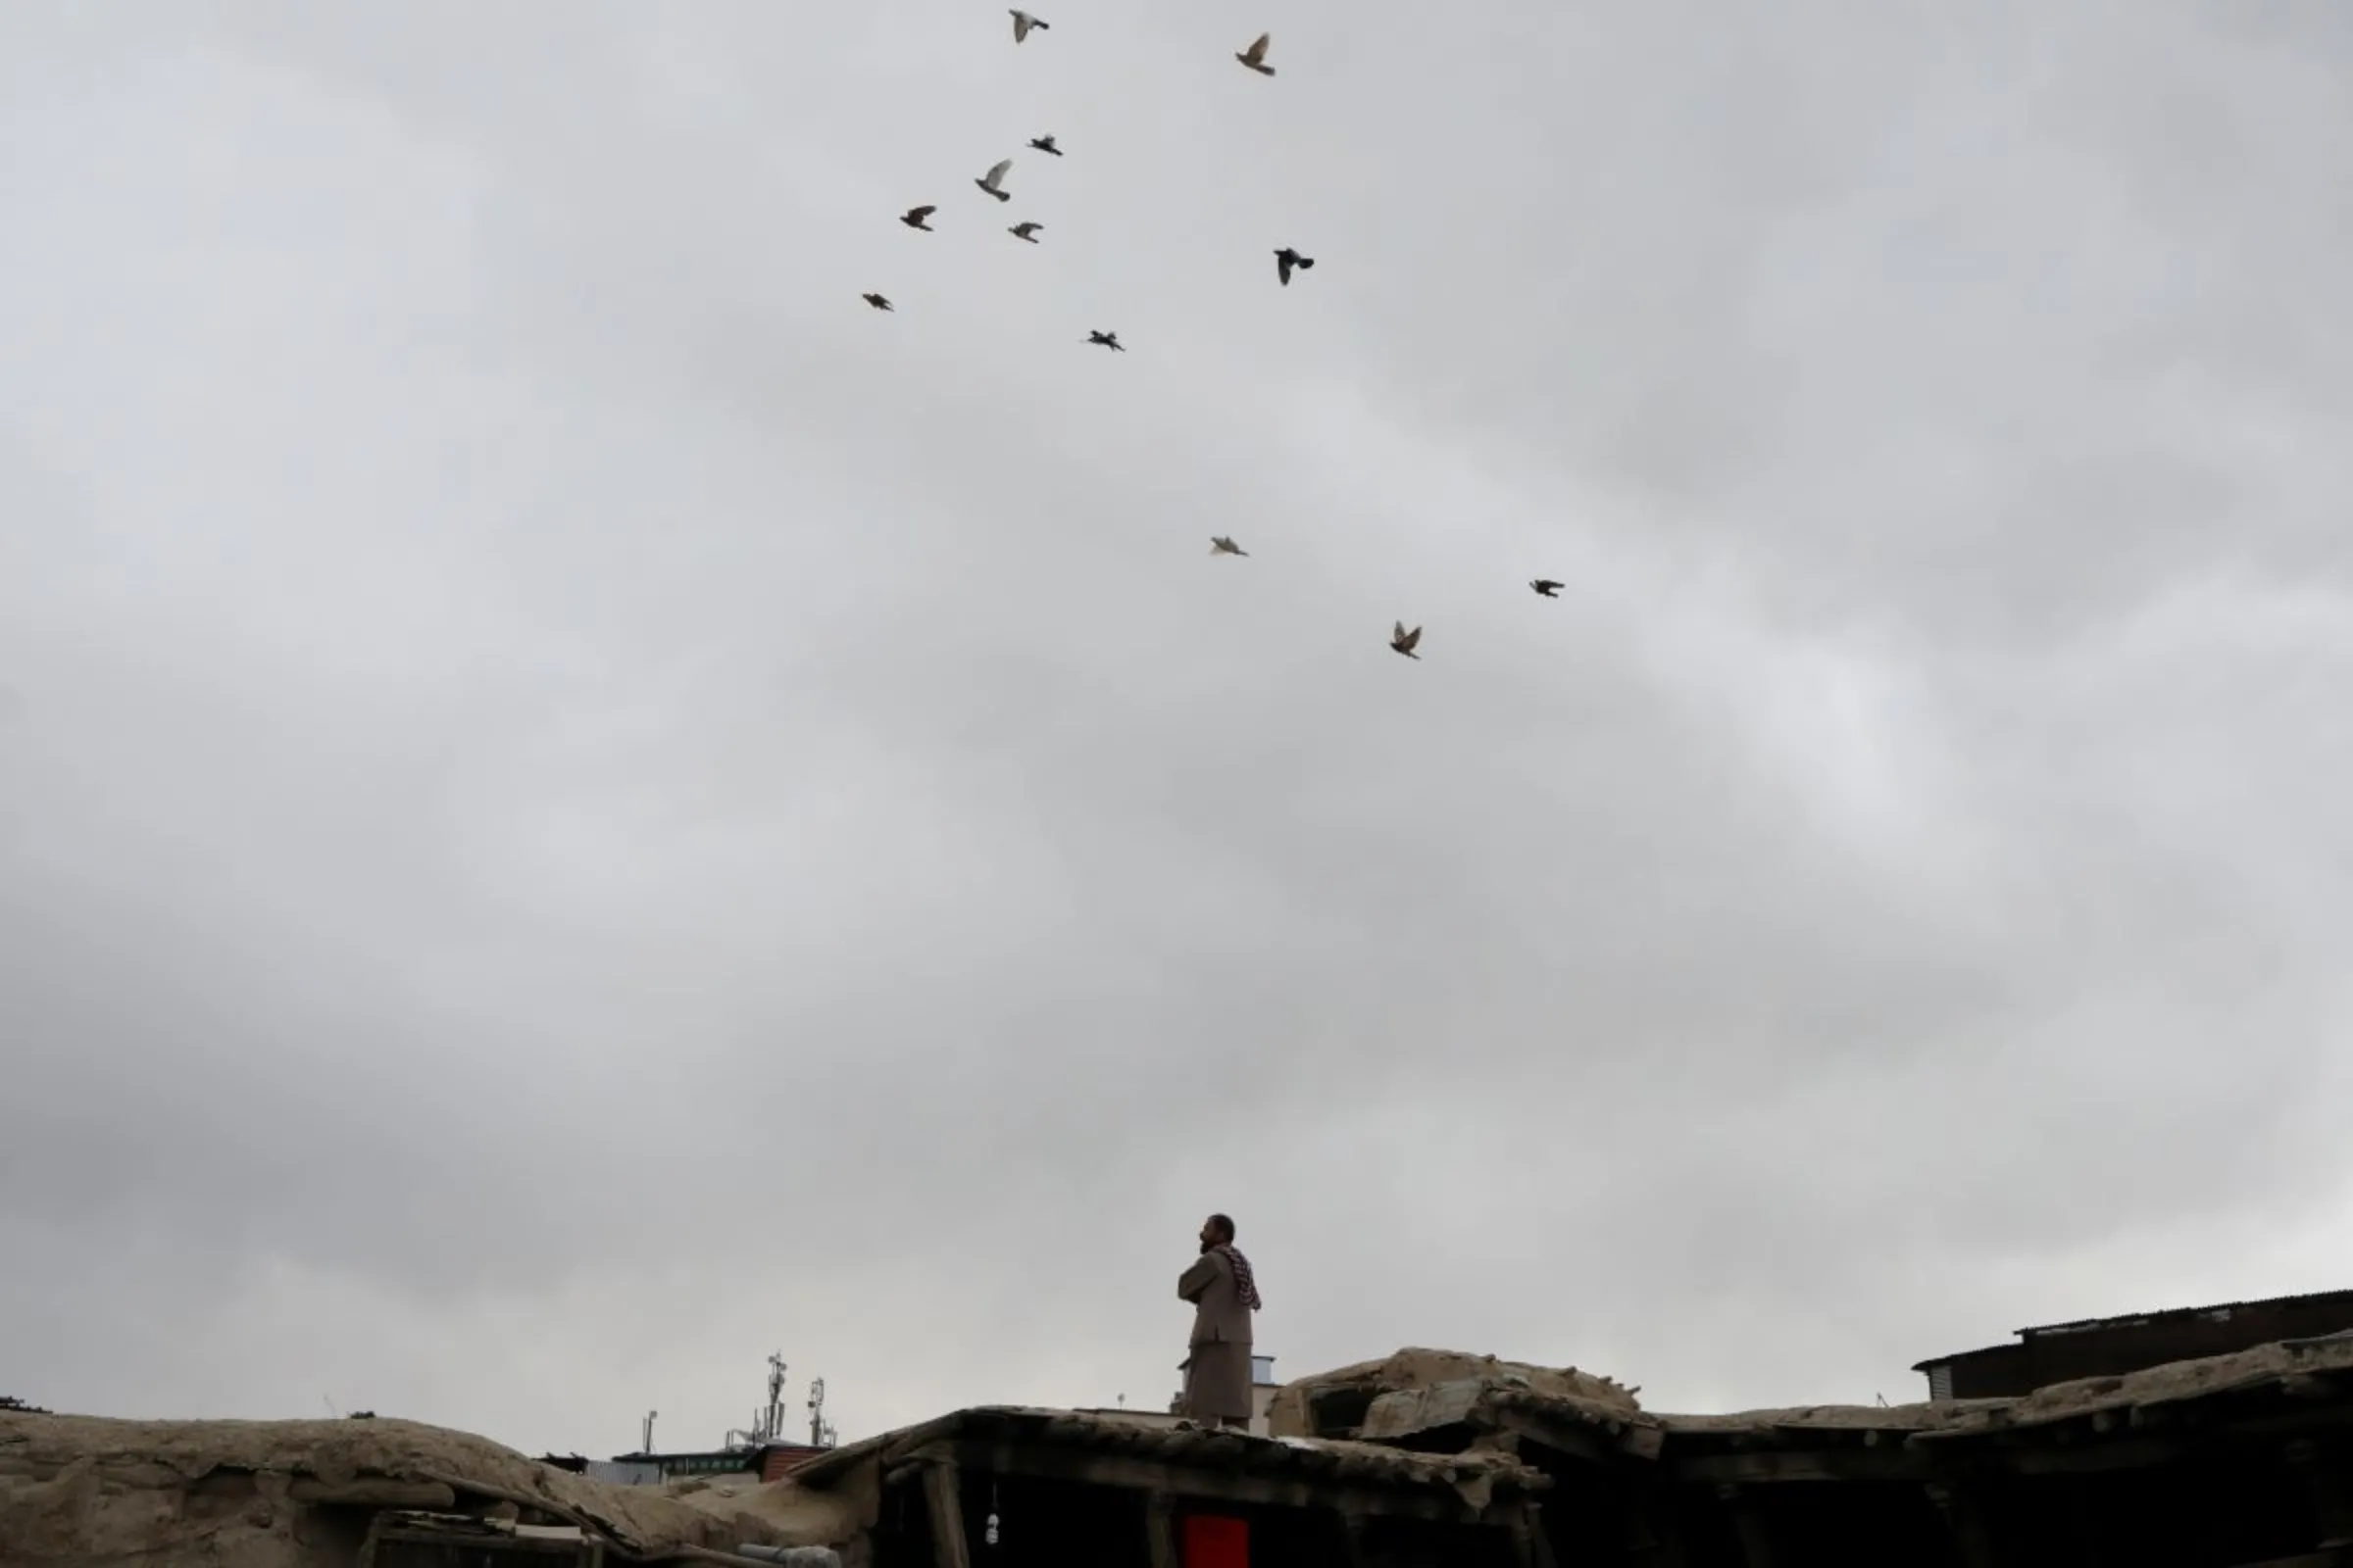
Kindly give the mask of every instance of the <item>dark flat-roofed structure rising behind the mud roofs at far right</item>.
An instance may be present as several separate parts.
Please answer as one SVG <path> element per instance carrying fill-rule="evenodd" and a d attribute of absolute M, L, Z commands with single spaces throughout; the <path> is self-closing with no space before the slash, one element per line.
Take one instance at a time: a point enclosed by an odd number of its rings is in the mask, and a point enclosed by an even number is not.
<path fill-rule="evenodd" d="M 2017 1345 L 1965 1349 L 1920 1361 L 1913 1371 L 1927 1375 L 1929 1399 L 2017 1399 L 2052 1382 L 2122 1378 L 2169 1361 L 2348 1331 L 2353 1291 L 2322 1291 L 2019 1328 Z"/>

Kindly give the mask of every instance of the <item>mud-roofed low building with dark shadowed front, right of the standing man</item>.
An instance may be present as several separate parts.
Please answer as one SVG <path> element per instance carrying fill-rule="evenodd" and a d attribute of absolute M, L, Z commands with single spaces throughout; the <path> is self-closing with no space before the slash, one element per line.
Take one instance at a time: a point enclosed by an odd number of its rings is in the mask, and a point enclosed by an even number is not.
<path fill-rule="evenodd" d="M 2019 1399 L 1654 1415 L 1588 1373 L 1400 1352 L 1306 1378 L 1278 1436 L 1539 1469 L 1558 1563 L 2353 1563 L 2353 1333 Z"/>

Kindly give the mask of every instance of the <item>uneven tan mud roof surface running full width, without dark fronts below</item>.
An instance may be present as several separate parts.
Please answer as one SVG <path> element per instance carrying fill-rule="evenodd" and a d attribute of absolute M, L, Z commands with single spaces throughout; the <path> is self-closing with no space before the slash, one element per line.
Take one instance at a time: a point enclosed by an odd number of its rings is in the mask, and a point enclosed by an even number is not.
<path fill-rule="evenodd" d="M 1628 1443 L 1645 1436 L 1642 1429 L 1652 1441 L 1664 1434 L 1673 1443 L 1675 1434 L 1704 1439 L 1711 1432 L 1807 1427 L 1922 1434 L 2040 1427 L 2266 1385 L 2308 1394 L 2325 1389 L 2322 1380 L 2332 1373 L 2353 1373 L 2353 1333 L 2059 1382 L 2024 1399 L 1654 1415 L 1635 1403 L 1633 1389 L 1595 1373 L 1402 1349 L 1285 1387 L 1271 1418 L 1273 1443 L 1068 1410 L 991 1408 L 835 1450 L 812 1474 L 826 1474 L 824 1490 L 748 1476 L 609 1486 L 466 1432 L 405 1420 L 141 1422 L 0 1410 L 0 1559 L 9 1568 L 348 1568 L 374 1509 L 496 1514 L 504 1507 L 593 1533 L 609 1542 L 607 1556 L 616 1561 L 666 1561 L 694 1549 L 762 1542 L 840 1547 L 845 1566 L 856 1568 L 866 1556 L 859 1526 L 871 1516 L 873 1497 L 866 1493 L 875 1472 L 873 1462 L 856 1460 L 882 1458 L 894 1443 L 929 1441 L 972 1420 L 1035 1425 L 1040 1439 L 1087 1446 L 1151 1446 L 1172 1455 L 1200 1448 L 1200 1460 L 1221 1465 L 1254 1465 L 1261 1458 L 1249 1450 L 1292 1448 L 1301 1462 L 1332 1467 L 1334 1476 L 1412 1467 L 1445 1483 L 1485 1486 L 1515 1479 L 1518 1467 L 1501 1453 L 1402 1455 L 1372 1443 L 1301 1441 L 1308 1436 L 1306 1396 L 1318 1389 L 1348 1389 L 1372 1401 L 1386 1396 L 1395 1399 L 1393 1420 L 1409 1422 L 1464 1403 L 1468 1389 L 1501 1406 L 1558 1403 L 1609 1432 L 1624 1429 Z M 1405 1479 L 1402 1469 L 1398 1479 Z"/>

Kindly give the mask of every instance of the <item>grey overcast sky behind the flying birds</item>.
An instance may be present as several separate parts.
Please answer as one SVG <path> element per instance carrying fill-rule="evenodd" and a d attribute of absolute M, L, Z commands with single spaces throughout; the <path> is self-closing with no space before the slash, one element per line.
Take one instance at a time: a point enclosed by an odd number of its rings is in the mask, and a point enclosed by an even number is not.
<path fill-rule="evenodd" d="M 1042 14 L 0 9 L 0 1394 L 2353 1286 L 2344 5 Z"/>

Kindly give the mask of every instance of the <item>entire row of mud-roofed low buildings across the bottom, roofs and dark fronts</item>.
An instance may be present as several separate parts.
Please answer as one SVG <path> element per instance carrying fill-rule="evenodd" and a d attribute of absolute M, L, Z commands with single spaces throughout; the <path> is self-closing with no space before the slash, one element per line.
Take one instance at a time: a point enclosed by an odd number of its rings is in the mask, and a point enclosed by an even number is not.
<path fill-rule="evenodd" d="M 0 1556 L 449 1568 L 2344 1568 L 2353 1333 L 2014 1399 L 1645 1410 L 1454 1352 L 1301 1378 L 1271 1436 L 979 1408 L 791 1481 L 598 1486 L 402 1420 L 0 1413 Z M 638 1455 L 654 1465 L 664 1458 Z M 713 1455 L 701 1455 L 711 1460 Z M 680 1467 L 725 1476 L 727 1469 Z M 786 1556 L 786 1552 L 800 1556 Z M 527 1568 L 515 1563 L 515 1568 Z"/>

